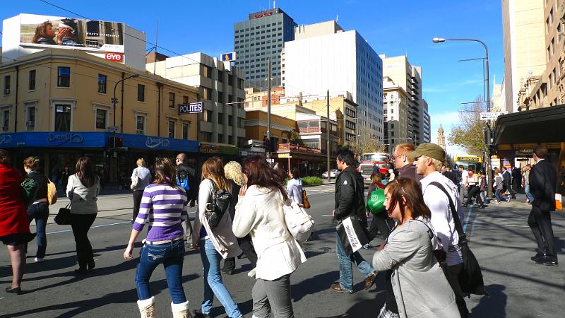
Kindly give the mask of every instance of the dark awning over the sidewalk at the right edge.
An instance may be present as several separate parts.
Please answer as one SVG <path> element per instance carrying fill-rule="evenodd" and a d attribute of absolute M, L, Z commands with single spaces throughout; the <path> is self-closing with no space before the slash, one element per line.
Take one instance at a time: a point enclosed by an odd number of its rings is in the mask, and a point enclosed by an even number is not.
<path fill-rule="evenodd" d="M 565 141 L 565 105 L 502 115 L 494 136 L 497 145 Z"/>

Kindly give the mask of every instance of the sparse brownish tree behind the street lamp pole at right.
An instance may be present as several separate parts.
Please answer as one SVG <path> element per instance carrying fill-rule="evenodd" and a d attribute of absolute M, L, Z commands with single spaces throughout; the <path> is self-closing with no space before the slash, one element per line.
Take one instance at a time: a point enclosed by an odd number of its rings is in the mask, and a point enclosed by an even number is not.
<path fill-rule="evenodd" d="M 484 112 L 483 98 L 478 95 L 475 102 L 465 105 L 459 110 L 459 124 L 453 126 L 448 142 L 464 148 L 470 155 L 482 156 L 484 153 L 484 129 L 487 122 L 480 120 L 480 112 Z"/>

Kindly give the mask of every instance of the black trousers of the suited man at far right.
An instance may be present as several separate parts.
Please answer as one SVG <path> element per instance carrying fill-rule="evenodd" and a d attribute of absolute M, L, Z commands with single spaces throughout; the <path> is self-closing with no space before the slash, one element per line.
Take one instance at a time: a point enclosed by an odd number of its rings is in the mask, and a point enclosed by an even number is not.
<path fill-rule="evenodd" d="M 528 225 L 534 233 L 537 242 L 537 252 L 544 253 L 550 257 L 556 257 L 553 247 L 552 216 L 549 211 L 541 211 L 537 206 L 532 206 Z"/>

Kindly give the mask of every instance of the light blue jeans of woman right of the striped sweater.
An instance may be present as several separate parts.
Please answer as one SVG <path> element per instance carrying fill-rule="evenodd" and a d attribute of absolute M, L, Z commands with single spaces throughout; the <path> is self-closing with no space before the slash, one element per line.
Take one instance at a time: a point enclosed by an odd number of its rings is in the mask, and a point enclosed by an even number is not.
<path fill-rule="evenodd" d="M 201 310 L 203 314 L 209 314 L 212 310 L 212 302 L 214 295 L 220 300 L 228 317 L 237 318 L 242 316 L 237 304 L 234 302 L 232 295 L 225 288 L 222 282 L 222 274 L 220 273 L 220 261 L 222 256 L 216 251 L 212 241 L 200 241 L 200 257 L 204 265 L 204 301 Z"/>

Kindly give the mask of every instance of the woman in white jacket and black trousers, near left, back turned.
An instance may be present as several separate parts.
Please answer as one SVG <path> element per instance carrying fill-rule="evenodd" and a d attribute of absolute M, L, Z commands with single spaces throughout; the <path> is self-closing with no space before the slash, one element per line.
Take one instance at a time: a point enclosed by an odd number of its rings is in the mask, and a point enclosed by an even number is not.
<path fill-rule="evenodd" d="M 76 173 L 69 177 L 66 195 L 71 200 L 71 228 L 76 242 L 78 274 L 88 273 L 95 267 L 93 247 L 88 240 L 88 230 L 93 225 L 98 213 L 98 194 L 100 178 L 94 172 L 90 158 L 76 160 Z"/>

